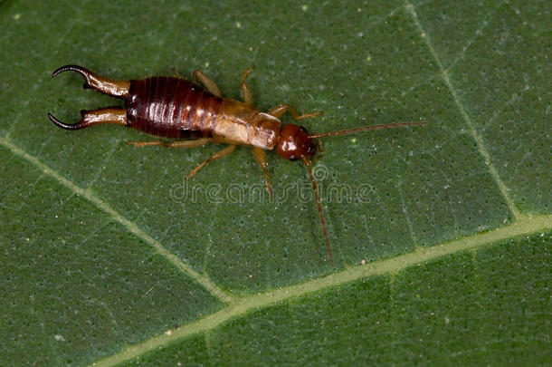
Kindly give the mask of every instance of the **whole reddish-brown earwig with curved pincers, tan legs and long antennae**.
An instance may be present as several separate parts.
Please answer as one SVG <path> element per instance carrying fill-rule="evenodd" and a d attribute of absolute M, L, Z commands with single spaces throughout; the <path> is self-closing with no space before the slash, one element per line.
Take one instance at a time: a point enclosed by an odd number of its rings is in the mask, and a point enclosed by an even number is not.
<path fill-rule="evenodd" d="M 321 112 L 300 115 L 289 104 L 279 104 L 267 112 L 255 109 L 252 107 L 252 93 L 246 82 L 247 75 L 253 69 L 254 67 L 251 67 L 243 72 L 240 81 L 243 101 L 236 101 L 222 98 L 216 84 L 199 70 L 193 73 L 194 82 L 186 81 L 176 71 L 176 77 L 154 76 L 143 80 L 111 81 L 82 66 L 65 65 L 52 72 L 52 77 L 61 72 L 78 72 L 85 79 L 83 85 L 85 89 L 91 88 L 124 99 L 125 107 L 83 110 L 81 121 L 74 124 L 59 121 L 51 112 L 48 113 L 48 117 L 55 125 L 65 130 L 80 130 L 92 125 L 115 123 L 152 135 L 177 139 L 170 142 L 163 140 L 128 142 L 135 147 L 160 145 L 169 148 L 193 148 L 208 143 L 227 144 L 223 150 L 214 153 L 192 169 L 186 179 L 192 178 L 199 169 L 214 159 L 228 156 L 237 145 L 251 146 L 253 156 L 262 168 L 266 188 L 271 196 L 271 179 L 264 151 L 276 149 L 283 159 L 302 160 L 309 172 L 328 257 L 333 266 L 326 220 L 311 169 L 311 159 L 319 159 L 322 156 L 320 138 L 368 130 L 424 125 L 426 122 L 389 123 L 311 135 L 305 128 L 293 123 L 286 124 L 282 128 L 280 117 L 287 111 L 290 111 L 296 121 L 313 118 Z M 203 83 L 204 88 L 199 86 L 199 82 Z M 318 156 L 317 151 L 319 151 Z"/>

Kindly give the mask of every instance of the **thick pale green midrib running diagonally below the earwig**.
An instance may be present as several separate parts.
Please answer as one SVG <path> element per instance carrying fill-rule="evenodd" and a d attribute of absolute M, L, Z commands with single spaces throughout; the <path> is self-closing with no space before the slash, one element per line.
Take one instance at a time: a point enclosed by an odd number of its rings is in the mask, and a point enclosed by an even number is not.
<path fill-rule="evenodd" d="M 318 292 L 326 288 L 344 285 L 375 275 L 395 274 L 409 266 L 417 266 L 443 256 L 453 255 L 462 251 L 475 251 L 482 246 L 495 244 L 498 241 L 525 237 L 538 232 L 552 229 L 552 215 L 538 217 L 521 217 L 516 223 L 490 232 L 463 237 L 441 245 L 428 248 L 419 247 L 416 251 L 402 256 L 378 260 L 366 266 L 350 266 L 332 275 L 323 276 L 299 285 L 289 285 L 258 295 L 244 297 L 222 310 L 205 316 L 181 328 L 154 336 L 142 343 L 129 346 L 127 349 L 112 354 L 109 357 L 94 362 L 94 366 L 112 366 L 125 362 L 145 353 L 151 352 L 163 345 L 174 343 L 195 334 L 210 331 L 230 320 L 243 316 L 253 310 L 259 310 L 272 304 L 284 302 L 290 298 Z"/>

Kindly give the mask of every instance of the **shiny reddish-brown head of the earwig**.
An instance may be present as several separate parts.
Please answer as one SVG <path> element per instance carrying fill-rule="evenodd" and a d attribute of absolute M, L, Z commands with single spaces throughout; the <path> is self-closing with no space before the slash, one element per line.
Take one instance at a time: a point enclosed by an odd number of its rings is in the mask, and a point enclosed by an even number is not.
<path fill-rule="evenodd" d="M 290 160 L 312 158 L 316 150 L 316 143 L 309 138 L 307 130 L 302 126 L 290 123 L 281 130 L 280 140 L 276 145 L 276 152 L 281 158 Z"/>

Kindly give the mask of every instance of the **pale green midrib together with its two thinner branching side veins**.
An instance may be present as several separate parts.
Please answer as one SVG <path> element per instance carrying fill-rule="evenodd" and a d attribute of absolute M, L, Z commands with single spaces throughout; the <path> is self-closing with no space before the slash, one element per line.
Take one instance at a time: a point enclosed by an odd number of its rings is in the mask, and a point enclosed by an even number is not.
<path fill-rule="evenodd" d="M 80 195 L 83 198 L 87 198 L 90 202 L 92 202 L 104 212 L 108 213 L 109 216 L 113 217 L 113 219 L 121 223 L 124 227 L 127 227 L 129 232 L 140 237 L 150 246 L 153 246 L 160 255 L 167 258 L 167 260 L 175 265 L 181 272 L 189 275 L 197 283 L 203 285 L 205 289 L 207 289 L 212 295 L 217 296 L 219 299 L 227 304 L 227 306 L 222 310 L 214 314 L 207 315 L 204 318 L 195 321 L 194 323 L 187 324 L 186 326 L 183 326 L 180 329 L 174 331 L 171 335 L 164 334 L 155 336 L 143 343 L 140 343 L 139 345 L 128 347 L 124 351 L 113 354 L 108 358 L 101 360 L 100 362 L 96 362 L 94 363 L 94 365 L 112 365 L 118 362 L 123 362 L 130 358 L 135 358 L 138 355 L 148 353 L 148 351 L 151 351 L 161 345 L 172 343 L 178 339 L 186 338 L 194 333 L 211 330 L 217 326 L 220 326 L 221 324 L 228 322 L 234 317 L 239 317 L 243 314 L 248 313 L 252 309 L 267 307 L 271 304 L 283 302 L 291 297 L 307 295 L 309 293 L 317 292 L 328 287 L 334 287 L 348 282 L 357 281 L 369 276 L 393 274 L 404 270 L 404 268 L 408 266 L 422 264 L 424 262 L 431 261 L 442 256 L 452 255 L 466 250 L 476 250 L 481 246 L 496 243 L 500 240 L 520 236 L 528 236 L 530 234 L 538 233 L 539 231 L 547 231 L 552 228 L 552 216 L 550 215 L 526 217 L 519 213 L 518 208 L 515 207 L 513 200 L 509 197 L 508 188 L 504 185 L 504 183 L 500 179 L 497 170 L 492 164 L 490 154 L 484 146 L 481 135 L 476 130 L 470 116 L 463 107 L 462 101 L 459 99 L 456 90 L 452 86 L 452 82 L 450 81 L 448 76 L 449 71 L 443 67 L 443 63 L 441 62 L 438 54 L 433 48 L 431 38 L 427 33 L 424 32 L 424 28 L 420 23 L 417 14 L 415 13 L 414 6 L 408 0 L 405 0 L 404 6 L 402 7 L 407 11 L 408 14 L 411 15 L 414 24 L 416 25 L 420 33 L 421 39 L 424 41 L 424 43 L 426 43 L 430 53 L 433 56 L 433 59 L 437 63 L 443 81 L 449 88 L 449 92 L 451 92 L 456 106 L 458 107 L 459 111 L 461 111 L 462 118 L 469 127 L 471 136 L 476 141 L 481 156 L 483 157 L 483 159 L 485 159 L 485 162 L 487 163 L 491 177 L 496 181 L 503 198 L 505 198 L 506 202 L 508 203 L 509 209 L 515 217 L 515 222 L 507 227 L 501 227 L 487 233 L 476 234 L 470 237 L 463 237 L 451 242 L 443 243 L 441 245 L 436 245 L 429 248 L 418 247 L 414 252 L 410 254 L 395 256 L 393 258 L 388 258 L 384 260 L 378 260 L 366 266 L 347 267 L 341 272 L 313 279 L 300 285 L 290 285 L 258 295 L 247 296 L 244 298 L 235 298 L 233 295 L 230 295 L 229 293 L 225 292 L 217 285 L 215 285 L 206 275 L 195 272 L 195 270 L 191 266 L 188 266 L 180 258 L 168 251 L 166 247 L 162 246 L 154 238 L 148 236 L 148 234 L 145 233 L 141 228 L 136 226 L 134 222 L 128 220 L 126 217 L 123 217 L 119 212 L 111 208 L 108 203 L 95 196 L 93 192 L 90 191 L 90 189 L 81 188 L 74 184 L 71 180 L 64 178 L 59 172 L 44 164 L 40 159 L 34 157 L 33 155 L 26 152 L 24 149 L 17 146 L 13 140 L 10 140 L 7 137 L 0 138 L 0 144 L 5 146 L 5 148 L 11 150 L 15 155 L 33 163 L 33 165 L 42 170 L 44 174 L 47 174 L 53 179 L 58 180 L 63 186 L 70 188 L 77 195 Z"/>

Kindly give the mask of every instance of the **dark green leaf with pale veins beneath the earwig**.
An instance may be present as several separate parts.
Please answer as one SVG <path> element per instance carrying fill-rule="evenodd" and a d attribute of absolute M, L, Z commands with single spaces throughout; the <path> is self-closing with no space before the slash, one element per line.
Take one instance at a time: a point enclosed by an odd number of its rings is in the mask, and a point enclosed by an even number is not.
<path fill-rule="evenodd" d="M 2 365 L 549 364 L 547 2 L 0 2 Z M 113 79 L 248 78 L 323 140 L 306 170 L 154 140 L 81 109 Z M 284 122 L 292 119 L 288 116 Z"/>

